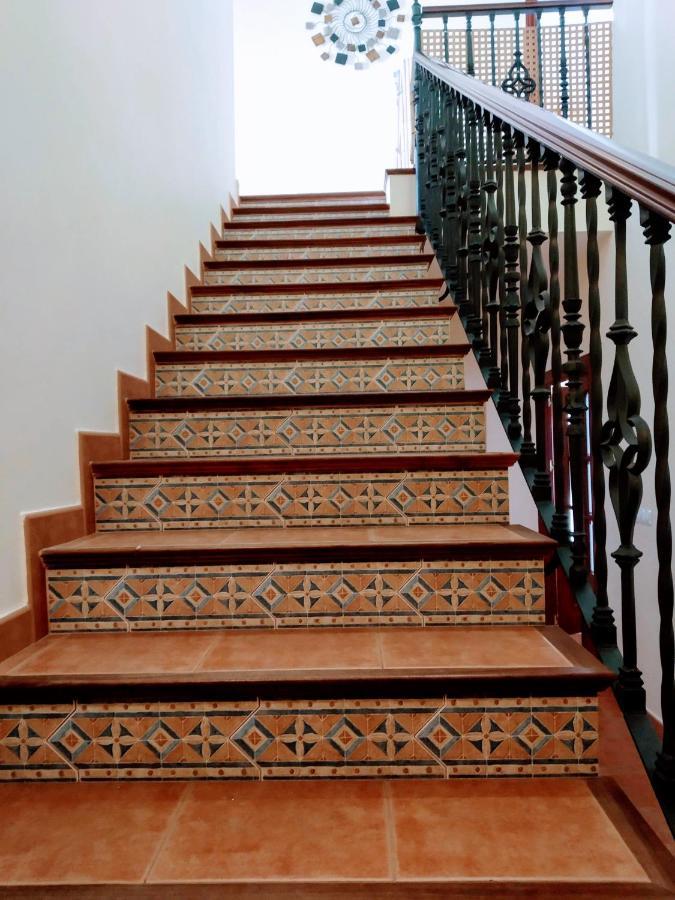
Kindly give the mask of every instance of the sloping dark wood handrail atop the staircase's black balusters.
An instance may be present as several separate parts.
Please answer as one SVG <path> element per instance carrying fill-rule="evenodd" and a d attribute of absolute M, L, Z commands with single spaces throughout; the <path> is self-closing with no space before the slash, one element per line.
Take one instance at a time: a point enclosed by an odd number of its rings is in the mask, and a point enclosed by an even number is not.
<path fill-rule="evenodd" d="M 675 222 L 675 167 L 622 147 L 532 103 L 517 100 L 423 53 L 415 53 L 415 62 L 517 131 Z"/>

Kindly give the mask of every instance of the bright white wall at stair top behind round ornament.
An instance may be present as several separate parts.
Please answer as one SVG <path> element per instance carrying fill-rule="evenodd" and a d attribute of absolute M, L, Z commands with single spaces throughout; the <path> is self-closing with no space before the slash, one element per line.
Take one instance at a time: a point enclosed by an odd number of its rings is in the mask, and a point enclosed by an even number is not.
<path fill-rule="evenodd" d="M 396 165 L 394 72 L 405 54 L 363 71 L 337 66 L 305 29 L 309 0 L 234 6 L 241 193 L 381 190 Z"/>

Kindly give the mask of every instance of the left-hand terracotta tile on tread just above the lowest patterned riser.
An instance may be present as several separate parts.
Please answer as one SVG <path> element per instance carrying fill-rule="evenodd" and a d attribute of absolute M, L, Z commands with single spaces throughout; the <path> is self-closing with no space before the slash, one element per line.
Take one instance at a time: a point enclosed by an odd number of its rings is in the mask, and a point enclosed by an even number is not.
<path fill-rule="evenodd" d="M 211 634 L 93 634 L 45 638 L 13 675 L 192 672 Z"/>

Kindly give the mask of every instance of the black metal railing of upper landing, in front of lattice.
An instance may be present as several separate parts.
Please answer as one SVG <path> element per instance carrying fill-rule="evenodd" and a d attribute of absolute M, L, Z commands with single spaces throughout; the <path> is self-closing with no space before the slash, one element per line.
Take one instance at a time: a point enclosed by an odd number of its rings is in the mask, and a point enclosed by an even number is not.
<path fill-rule="evenodd" d="M 611 22 L 601 27 L 589 16 L 596 11 L 611 16 L 612 7 L 613 0 L 493 0 L 424 7 L 423 22 L 439 23 L 442 30 L 424 29 L 420 49 L 513 96 L 611 135 Z M 580 25 L 571 24 L 572 13 L 581 13 Z M 544 25 L 543 16 L 555 24 Z M 485 17 L 488 27 L 476 28 L 476 20 Z M 461 32 L 452 27 L 457 22 Z"/>

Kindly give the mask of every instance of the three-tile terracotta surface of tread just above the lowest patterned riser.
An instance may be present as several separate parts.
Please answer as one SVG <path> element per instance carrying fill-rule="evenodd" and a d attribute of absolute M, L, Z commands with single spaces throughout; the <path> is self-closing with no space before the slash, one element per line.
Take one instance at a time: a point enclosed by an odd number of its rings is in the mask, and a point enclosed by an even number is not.
<path fill-rule="evenodd" d="M 574 642 L 565 641 L 573 649 Z M 583 651 L 582 651 L 583 652 Z M 525 662 L 523 662 L 525 661 Z M 588 657 L 592 663 L 592 657 Z M 228 634 L 73 634 L 43 638 L 0 663 L 0 675 L 161 675 L 291 670 L 569 669 L 546 629 L 321 629 Z"/>

